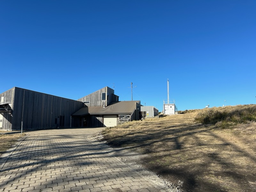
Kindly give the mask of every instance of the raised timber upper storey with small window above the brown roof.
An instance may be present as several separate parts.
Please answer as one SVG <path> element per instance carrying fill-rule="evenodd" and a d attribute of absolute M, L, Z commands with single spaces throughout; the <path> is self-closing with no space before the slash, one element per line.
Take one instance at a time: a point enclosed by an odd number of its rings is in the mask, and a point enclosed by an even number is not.
<path fill-rule="evenodd" d="M 108 97 L 106 100 L 101 100 L 102 93 L 107 93 Z M 88 107 L 103 107 L 103 105 L 108 106 L 111 102 L 117 101 L 118 96 L 114 95 L 114 90 L 109 87 L 104 87 L 96 92 L 87 95 L 78 101 L 90 101 L 89 104 L 86 104 Z"/>

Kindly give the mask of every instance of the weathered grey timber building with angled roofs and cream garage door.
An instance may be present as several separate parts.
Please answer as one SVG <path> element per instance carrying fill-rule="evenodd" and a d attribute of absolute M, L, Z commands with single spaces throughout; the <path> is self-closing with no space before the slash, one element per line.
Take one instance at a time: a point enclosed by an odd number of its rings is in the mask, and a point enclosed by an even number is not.
<path fill-rule="evenodd" d="M 78 100 L 14 87 L 0 94 L 0 130 L 116 126 L 139 120 L 141 106 L 109 87 Z"/>

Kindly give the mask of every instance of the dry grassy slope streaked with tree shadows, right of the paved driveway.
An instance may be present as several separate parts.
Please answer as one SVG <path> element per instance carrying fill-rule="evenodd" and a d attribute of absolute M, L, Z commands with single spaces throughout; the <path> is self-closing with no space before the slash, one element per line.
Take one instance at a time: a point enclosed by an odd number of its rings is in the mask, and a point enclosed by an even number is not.
<path fill-rule="evenodd" d="M 138 162 L 186 191 L 255 192 L 256 123 L 220 129 L 195 123 L 198 112 L 108 128 L 104 140 L 147 154 Z"/>

